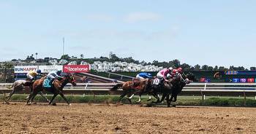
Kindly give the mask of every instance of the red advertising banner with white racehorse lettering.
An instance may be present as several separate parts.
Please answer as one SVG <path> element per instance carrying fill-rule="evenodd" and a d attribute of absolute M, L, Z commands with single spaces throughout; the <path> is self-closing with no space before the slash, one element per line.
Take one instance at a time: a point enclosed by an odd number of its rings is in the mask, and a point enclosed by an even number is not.
<path fill-rule="evenodd" d="M 86 73 L 89 72 L 89 65 L 65 65 L 64 73 Z"/>

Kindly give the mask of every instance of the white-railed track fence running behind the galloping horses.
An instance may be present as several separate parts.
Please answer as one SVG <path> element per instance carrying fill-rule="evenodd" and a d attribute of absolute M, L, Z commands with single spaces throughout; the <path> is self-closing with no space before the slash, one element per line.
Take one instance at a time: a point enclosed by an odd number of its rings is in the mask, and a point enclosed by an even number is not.
<path fill-rule="evenodd" d="M 10 83 L 1 83 L 0 92 L 10 92 L 5 86 Z M 64 93 L 76 95 L 118 95 L 122 92 L 118 89 L 116 92 L 110 92 L 110 89 L 116 85 L 115 83 L 78 83 L 76 87 L 67 84 L 64 87 Z M 29 93 L 29 92 L 20 92 Z M 256 83 L 191 83 L 188 84 L 181 92 L 181 95 L 201 95 L 202 99 L 206 95 L 223 95 L 223 96 L 256 96 Z M 256 99 L 256 97 L 255 97 Z"/>

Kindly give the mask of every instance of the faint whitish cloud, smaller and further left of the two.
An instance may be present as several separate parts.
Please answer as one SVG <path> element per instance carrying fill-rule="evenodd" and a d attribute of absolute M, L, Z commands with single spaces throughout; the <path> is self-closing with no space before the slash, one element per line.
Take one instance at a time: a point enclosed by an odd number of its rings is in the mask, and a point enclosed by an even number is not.
<path fill-rule="evenodd" d="M 92 21 L 104 21 L 104 22 L 110 22 L 114 18 L 110 15 L 104 15 L 104 14 L 92 14 L 92 15 L 86 15 L 87 20 Z"/>

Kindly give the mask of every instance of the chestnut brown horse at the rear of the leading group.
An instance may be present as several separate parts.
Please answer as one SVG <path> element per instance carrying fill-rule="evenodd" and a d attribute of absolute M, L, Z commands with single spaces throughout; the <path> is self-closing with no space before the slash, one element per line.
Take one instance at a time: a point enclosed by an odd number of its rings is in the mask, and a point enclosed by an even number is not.
<path fill-rule="evenodd" d="M 110 91 L 115 91 L 118 89 L 118 87 L 121 87 L 123 89 L 123 92 L 121 93 L 121 96 L 119 97 L 119 102 L 121 102 L 121 99 L 127 95 L 129 103 L 132 104 L 131 99 L 132 99 L 133 95 L 143 94 L 145 92 L 145 90 L 148 88 L 147 87 L 149 85 L 148 82 L 150 82 L 150 79 L 134 79 L 133 81 L 118 83 Z M 152 94 L 152 95 L 155 98 L 157 98 L 157 100 L 159 100 L 157 95 L 154 95 L 154 94 Z"/>

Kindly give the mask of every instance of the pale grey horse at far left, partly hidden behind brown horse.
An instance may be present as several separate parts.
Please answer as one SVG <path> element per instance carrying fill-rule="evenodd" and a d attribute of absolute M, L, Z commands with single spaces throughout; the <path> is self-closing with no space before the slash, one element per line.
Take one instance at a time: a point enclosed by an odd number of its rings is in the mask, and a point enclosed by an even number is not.
<path fill-rule="evenodd" d="M 7 98 L 7 100 L 4 100 L 7 104 L 9 104 L 10 98 L 12 97 L 13 94 L 15 94 L 15 92 L 19 92 L 22 90 L 25 90 L 25 87 L 30 87 L 32 89 L 32 85 L 34 82 L 31 81 L 26 81 L 26 80 L 17 80 L 15 82 L 13 82 L 11 87 L 7 87 L 8 89 L 12 89 L 12 92 L 10 92 L 9 95 L 7 95 L 5 98 Z M 46 101 L 50 102 L 48 100 L 48 98 L 46 98 L 42 92 L 39 92 L 39 94 L 42 96 L 42 98 L 45 98 Z M 32 103 L 32 102 L 31 102 Z"/>

